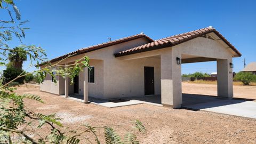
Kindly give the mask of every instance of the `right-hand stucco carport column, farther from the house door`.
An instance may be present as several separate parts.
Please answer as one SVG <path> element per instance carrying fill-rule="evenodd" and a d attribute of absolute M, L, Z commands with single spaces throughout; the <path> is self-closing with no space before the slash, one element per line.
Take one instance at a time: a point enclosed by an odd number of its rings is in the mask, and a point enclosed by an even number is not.
<path fill-rule="evenodd" d="M 233 98 L 233 69 L 230 68 L 232 58 L 217 59 L 218 97 Z"/>

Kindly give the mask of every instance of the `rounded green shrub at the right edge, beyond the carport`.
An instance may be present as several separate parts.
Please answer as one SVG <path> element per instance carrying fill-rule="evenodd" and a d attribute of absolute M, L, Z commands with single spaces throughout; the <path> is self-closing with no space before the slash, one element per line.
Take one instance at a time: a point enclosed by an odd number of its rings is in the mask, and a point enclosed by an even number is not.
<path fill-rule="evenodd" d="M 256 81 L 256 75 L 252 74 L 251 72 L 239 72 L 234 77 L 235 81 L 240 81 L 244 85 L 249 85 L 251 82 Z"/>

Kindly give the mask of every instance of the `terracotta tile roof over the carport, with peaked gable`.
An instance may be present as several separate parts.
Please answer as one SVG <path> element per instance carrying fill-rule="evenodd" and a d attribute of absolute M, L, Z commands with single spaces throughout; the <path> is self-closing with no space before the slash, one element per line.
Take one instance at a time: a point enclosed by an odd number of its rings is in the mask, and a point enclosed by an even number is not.
<path fill-rule="evenodd" d="M 139 52 L 145 52 L 145 51 L 151 51 L 151 50 L 156 50 L 156 49 L 162 49 L 164 47 L 169 47 L 169 46 L 174 46 L 183 42 L 187 42 L 190 39 L 203 36 L 205 34 L 209 33 L 215 33 L 217 36 L 219 36 L 223 42 L 225 42 L 231 49 L 233 49 L 236 54 L 240 57 L 242 54 L 238 52 L 238 50 L 230 44 L 225 37 L 223 37 L 217 30 L 215 30 L 213 27 L 206 27 L 194 31 L 189 31 L 187 33 L 179 34 L 179 35 L 174 35 L 162 39 L 158 39 L 154 42 L 144 44 L 138 47 L 134 47 L 129 50 L 121 51 L 118 52 L 115 55 L 115 57 L 121 57 L 123 55 L 129 55 L 133 53 L 139 53 Z"/>

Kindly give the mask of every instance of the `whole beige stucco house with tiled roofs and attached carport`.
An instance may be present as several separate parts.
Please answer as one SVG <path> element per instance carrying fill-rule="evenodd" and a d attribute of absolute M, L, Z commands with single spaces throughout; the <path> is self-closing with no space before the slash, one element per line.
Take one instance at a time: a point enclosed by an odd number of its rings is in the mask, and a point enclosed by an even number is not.
<path fill-rule="evenodd" d="M 74 63 L 87 55 L 92 70 L 85 68 L 69 84 L 69 78 L 47 75 L 40 90 L 64 95 L 77 93 L 88 97 L 111 99 L 144 95 L 161 95 L 163 106 L 179 108 L 182 104 L 182 63 L 217 61 L 218 97 L 233 97 L 232 59 L 241 53 L 213 27 L 153 40 L 141 33 L 98 45 L 84 47 L 68 55 L 60 65 Z M 233 64 L 232 64 L 233 65 Z M 44 65 L 41 65 L 43 68 Z"/>

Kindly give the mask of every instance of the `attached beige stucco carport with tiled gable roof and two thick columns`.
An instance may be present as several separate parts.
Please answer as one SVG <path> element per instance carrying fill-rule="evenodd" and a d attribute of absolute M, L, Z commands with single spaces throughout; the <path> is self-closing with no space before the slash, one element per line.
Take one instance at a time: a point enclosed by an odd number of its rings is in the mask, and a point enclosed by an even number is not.
<path fill-rule="evenodd" d="M 207 27 L 121 51 L 116 53 L 115 57 L 121 61 L 141 58 L 159 59 L 161 103 L 163 106 L 180 108 L 182 63 L 217 61 L 218 98 L 231 99 L 233 98 L 232 59 L 241 57 L 241 53 L 217 30 Z"/>

